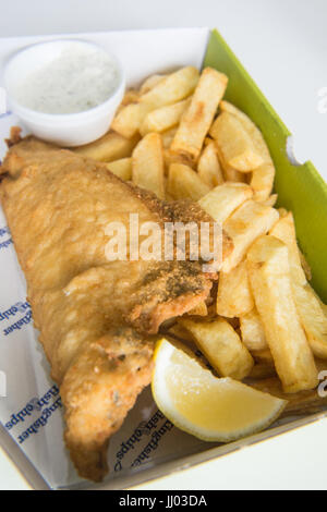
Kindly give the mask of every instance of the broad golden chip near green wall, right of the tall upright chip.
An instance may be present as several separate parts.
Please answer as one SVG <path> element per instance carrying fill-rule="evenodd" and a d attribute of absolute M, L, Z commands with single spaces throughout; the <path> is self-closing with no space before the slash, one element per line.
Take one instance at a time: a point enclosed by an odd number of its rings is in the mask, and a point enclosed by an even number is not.
<path fill-rule="evenodd" d="M 237 171 L 251 172 L 264 163 L 242 122 L 229 112 L 218 115 L 209 133 L 226 163 Z"/>

